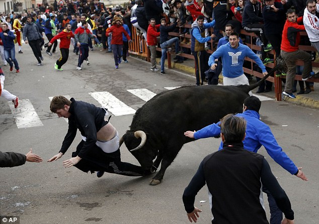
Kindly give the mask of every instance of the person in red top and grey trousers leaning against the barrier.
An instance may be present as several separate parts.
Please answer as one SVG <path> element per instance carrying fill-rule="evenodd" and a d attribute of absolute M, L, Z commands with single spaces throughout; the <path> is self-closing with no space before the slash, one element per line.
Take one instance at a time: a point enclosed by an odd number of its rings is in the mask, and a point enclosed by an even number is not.
<path fill-rule="evenodd" d="M 150 70 L 158 71 L 156 68 L 156 46 L 157 46 L 157 37 L 160 35 L 157 30 L 161 24 L 155 25 L 155 19 L 149 20 L 149 25 L 147 29 L 147 45 L 150 50 Z"/>

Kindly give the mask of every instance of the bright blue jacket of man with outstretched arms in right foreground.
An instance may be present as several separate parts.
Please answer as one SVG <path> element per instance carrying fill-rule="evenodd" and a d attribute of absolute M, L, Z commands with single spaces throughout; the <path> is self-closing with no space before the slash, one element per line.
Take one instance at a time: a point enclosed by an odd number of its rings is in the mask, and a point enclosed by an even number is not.
<path fill-rule="evenodd" d="M 273 160 L 290 174 L 297 174 L 298 168 L 290 160 L 282 148 L 278 145 L 276 138 L 271 132 L 269 126 L 259 120 L 259 113 L 253 110 L 247 110 L 244 113 L 236 114 L 237 117 L 243 117 L 247 121 L 246 137 L 243 141 L 244 148 L 248 151 L 257 153 L 259 148 L 263 145 L 267 153 Z M 220 122 L 208 125 L 194 133 L 194 138 L 207 138 L 218 136 L 220 134 Z M 222 142 L 219 150 L 222 149 Z"/>

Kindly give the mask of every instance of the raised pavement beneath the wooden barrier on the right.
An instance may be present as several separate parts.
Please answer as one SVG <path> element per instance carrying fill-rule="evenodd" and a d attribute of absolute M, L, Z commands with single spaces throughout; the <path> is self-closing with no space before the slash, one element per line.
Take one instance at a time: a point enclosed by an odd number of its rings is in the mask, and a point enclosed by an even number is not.
<path fill-rule="evenodd" d="M 161 61 L 161 58 L 156 58 L 156 61 L 157 63 L 159 63 L 159 61 Z M 165 60 L 165 64 L 167 67 L 167 60 Z M 186 73 L 189 73 L 195 76 L 195 63 L 194 63 L 194 60 L 192 59 L 188 59 L 184 61 L 184 63 L 180 63 L 180 64 L 174 63 L 172 60 L 172 68 L 180 70 L 180 71 L 184 71 Z M 253 81 L 251 81 L 250 83 L 252 84 L 255 82 L 256 82 L 256 79 L 253 78 Z M 219 76 L 219 83 L 222 83 L 222 75 Z M 284 84 L 282 89 L 284 89 Z M 256 94 L 257 90 L 258 88 L 254 89 L 252 92 Z M 299 84 L 297 84 L 297 92 L 299 92 L 299 90 L 300 90 Z M 296 96 L 296 99 L 291 99 L 286 96 L 282 96 L 283 101 L 305 106 L 305 107 L 319 109 L 319 83 L 314 83 L 314 91 L 312 91 L 309 94 L 301 94 L 301 95 L 297 95 L 296 93 L 294 94 Z M 274 87 L 273 87 L 273 91 L 268 93 L 259 93 L 259 95 L 269 97 L 269 98 L 275 98 Z"/>

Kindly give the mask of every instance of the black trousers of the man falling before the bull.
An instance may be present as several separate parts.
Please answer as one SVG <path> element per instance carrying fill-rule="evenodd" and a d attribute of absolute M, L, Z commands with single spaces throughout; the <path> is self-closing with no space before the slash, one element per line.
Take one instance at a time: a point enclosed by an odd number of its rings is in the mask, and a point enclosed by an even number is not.
<path fill-rule="evenodd" d="M 72 153 L 72 157 L 76 157 L 81 151 L 85 141 L 81 141 L 76 152 Z M 105 153 L 96 144 L 90 148 L 90 152 L 79 161 L 75 167 L 83 172 L 91 173 L 95 171 L 105 171 L 107 173 L 119 174 L 124 176 L 145 176 L 150 174 L 150 171 L 143 170 L 139 166 L 121 161 L 120 149 L 113 153 Z"/>

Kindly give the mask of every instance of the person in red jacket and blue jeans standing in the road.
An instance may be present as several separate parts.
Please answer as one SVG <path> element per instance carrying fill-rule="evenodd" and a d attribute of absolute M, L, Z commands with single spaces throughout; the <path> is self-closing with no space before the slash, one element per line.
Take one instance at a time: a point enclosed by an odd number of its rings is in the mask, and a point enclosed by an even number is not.
<path fill-rule="evenodd" d="M 115 68 L 119 68 L 121 63 L 122 49 L 123 49 L 123 34 L 127 40 L 130 41 L 130 35 L 125 31 L 122 26 L 123 20 L 120 17 L 115 16 L 112 22 L 112 26 L 106 30 L 106 36 L 108 37 L 112 33 L 112 51 L 114 56 Z"/>

